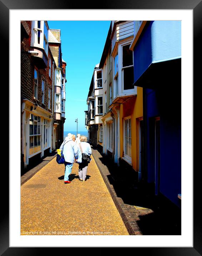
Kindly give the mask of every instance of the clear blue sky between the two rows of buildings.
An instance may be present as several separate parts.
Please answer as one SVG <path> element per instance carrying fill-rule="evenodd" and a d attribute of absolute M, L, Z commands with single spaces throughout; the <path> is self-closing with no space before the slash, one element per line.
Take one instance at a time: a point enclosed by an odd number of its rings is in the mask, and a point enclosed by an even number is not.
<path fill-rule="evenodd" d="M 100 62 L 111 21 L 48 21 L 61 30 L 62 59 L 66 66 L 64 131 L 86 131 L 86 99 L 96 64 Z"/>

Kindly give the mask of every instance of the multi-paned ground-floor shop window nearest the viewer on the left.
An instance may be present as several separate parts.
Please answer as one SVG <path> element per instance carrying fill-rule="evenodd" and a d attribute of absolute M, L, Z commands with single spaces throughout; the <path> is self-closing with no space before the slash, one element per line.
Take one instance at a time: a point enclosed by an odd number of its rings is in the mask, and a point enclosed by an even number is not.
<path fill-rule="evenodd" d="M 29 155 L 31 156 L 32 154 L 41 150 L 41 118 L 30 113 L 29 128 Z"/>

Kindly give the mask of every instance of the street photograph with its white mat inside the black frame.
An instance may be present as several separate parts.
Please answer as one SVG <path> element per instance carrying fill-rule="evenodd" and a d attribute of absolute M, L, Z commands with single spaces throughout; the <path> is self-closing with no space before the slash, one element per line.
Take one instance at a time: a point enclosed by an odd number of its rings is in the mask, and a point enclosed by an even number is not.
<path fill-rule="evenodd" d="M 191 10 L 127 11 L 9 11 L 9 100 L 15 107 L 18 93 L 19 103 L 5 255 L 20 247 L 192 251 Z"/>

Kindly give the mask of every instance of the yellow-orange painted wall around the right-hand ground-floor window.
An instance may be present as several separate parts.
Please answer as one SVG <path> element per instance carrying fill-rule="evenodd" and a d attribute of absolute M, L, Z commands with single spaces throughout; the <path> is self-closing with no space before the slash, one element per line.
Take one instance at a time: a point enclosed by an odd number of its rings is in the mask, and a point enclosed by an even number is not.
<path fill-rule="evenodd" d="M 137 87 L 137 96 L 127 100 L 120 106 L 120 157 L 123 157 L 123 121 L 131 115 L 131 159 L 132 167 L 139 168 L 139 132 L 138 119 L 143 116 L 142 88 Z"/>

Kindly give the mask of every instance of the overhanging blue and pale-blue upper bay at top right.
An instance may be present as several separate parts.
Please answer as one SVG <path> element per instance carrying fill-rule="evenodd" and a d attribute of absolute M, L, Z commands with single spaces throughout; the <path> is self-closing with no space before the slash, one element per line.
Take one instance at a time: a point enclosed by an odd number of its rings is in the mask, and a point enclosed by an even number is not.
<path fill-rule="evenodd" d="M 181 57 L 181 21 L 149 21 L 134 54 L 134 82 L 156 61 Z"/>

